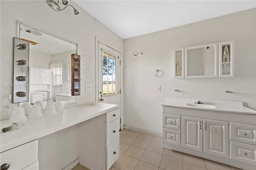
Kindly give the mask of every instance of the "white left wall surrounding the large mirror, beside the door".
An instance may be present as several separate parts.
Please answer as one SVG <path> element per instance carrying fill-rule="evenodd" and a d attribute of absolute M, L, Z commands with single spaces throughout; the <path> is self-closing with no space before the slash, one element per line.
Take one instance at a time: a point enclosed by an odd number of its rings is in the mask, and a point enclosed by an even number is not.
<path fill-rule="evenodd" d="M 109 44 L 123 49 L 123 40 L 106 26 L 84 11 L 72 0 L 68 4 L 80 12 L 74 15 L 72 8 L 54 11 L 46 0 L 0 1 L 1 5 L 1 119 L 8 119 L 7 109 L 9 87 L 12 84 L 13 37 L 16 37 L 16 20 L 23 21 L 34 27 L 54 35 L 78 43 L 78 54 L 81 55 L 81 96 L 76 97 L 76 104 L 95 101 L 95 36 Z M 12 9 L 10 12 L 10 9 Z M 92 91 L 85 91 L 85 83 L 92 83 Z M 18 104 L 12 104 L 16 107 Z"/>

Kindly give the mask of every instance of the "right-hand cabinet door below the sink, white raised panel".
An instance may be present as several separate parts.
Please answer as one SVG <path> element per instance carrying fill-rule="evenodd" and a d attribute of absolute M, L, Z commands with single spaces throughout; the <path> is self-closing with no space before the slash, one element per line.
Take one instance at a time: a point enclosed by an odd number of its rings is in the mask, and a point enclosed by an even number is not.
<path fill-rule="evenodd" d="M 204 119 L 204 152 L 229 157 L 228 122 Z"/>

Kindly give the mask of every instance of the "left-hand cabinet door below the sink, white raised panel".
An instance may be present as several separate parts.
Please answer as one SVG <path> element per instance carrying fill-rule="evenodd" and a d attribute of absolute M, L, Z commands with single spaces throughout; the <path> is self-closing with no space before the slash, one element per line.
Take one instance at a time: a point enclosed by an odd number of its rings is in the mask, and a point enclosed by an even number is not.
<path fill-rule="evenodd" d="M 203 151 L 202 119 L 181 117 L 181 146 Z"/>

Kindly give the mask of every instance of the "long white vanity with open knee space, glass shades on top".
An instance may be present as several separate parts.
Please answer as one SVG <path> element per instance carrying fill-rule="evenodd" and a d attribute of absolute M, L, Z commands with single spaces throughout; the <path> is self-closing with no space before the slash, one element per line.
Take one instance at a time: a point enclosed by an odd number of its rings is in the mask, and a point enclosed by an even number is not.
<path fill-rule="evenodd" d="M 115 104 L 90 103 L 65 108 L 64 113 L 28 119 L 20 129 L 0 133 L 1 166 L 10 164 L 8 170 L 36 170 L 42 161 L 46 169 L 56 169 L 54 165 L 59 159 L 66 160 L 77 150 L 76 160 L 66 162 L 64 169 L 71 169 L 78 162 L 90 169 L 109 169 L 119 156 L 118 109 Z M 8 120 L 0 123 L 1 127 L 12 124 Z M 76 146 L 65 148 L 60 154 L 56 146 L 63 144 L 57 142 L 54 135 L 65 143 L 70 137 L 67 132 L 72 133 L 74 139 L 70 140 L 76 141 Z"/>

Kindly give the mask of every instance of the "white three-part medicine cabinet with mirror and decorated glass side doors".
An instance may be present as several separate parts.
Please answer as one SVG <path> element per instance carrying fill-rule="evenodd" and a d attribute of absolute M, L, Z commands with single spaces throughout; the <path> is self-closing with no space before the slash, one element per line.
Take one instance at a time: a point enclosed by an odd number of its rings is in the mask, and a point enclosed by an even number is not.
<path fill-rule="evenodd" d="M 174 78 L 234 77 L 234 41 L 174 49 Z"/>

